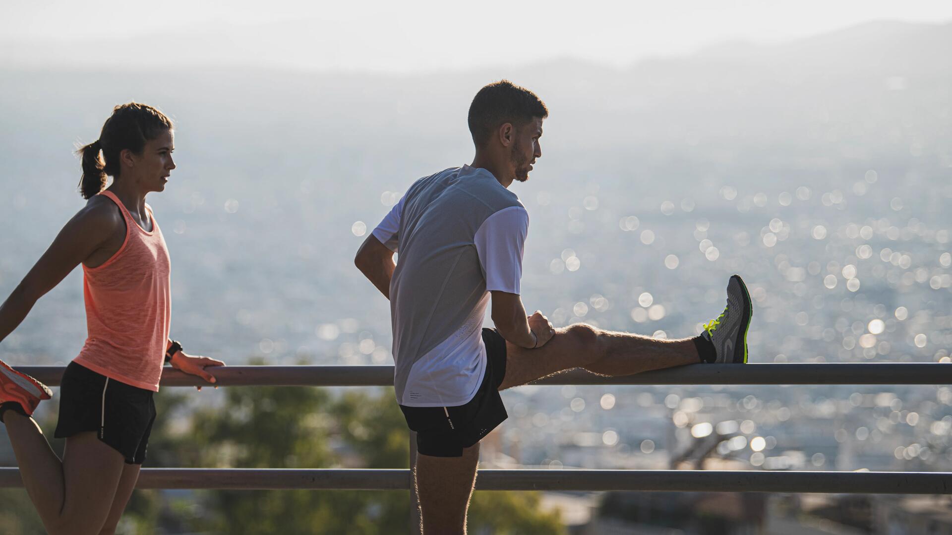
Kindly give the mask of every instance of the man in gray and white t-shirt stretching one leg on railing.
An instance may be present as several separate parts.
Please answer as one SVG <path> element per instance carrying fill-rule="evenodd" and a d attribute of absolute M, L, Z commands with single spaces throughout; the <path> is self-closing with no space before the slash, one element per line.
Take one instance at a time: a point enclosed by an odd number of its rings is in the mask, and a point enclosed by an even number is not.
<path fill-rule="evenodd" d="M 752 309 L 737 275 L 724 313 L 693 339 L 553 328 L 538 310 L 526 318 L 528 214 L 508 187 L 542 156 L 547 116 L 532 91 L 506 80 L 480 89 L 468 117 L 472 165 L 414 183 L 357 252 L 357 267 L 390 300 L 394 388 L 417 432 L 425 533 L 466 533 L 479 442 L 506 420 L 500 390 L 574 367 L 614 376 L 747 360 Z M 490 294 L 494 330 L 481 328 Z"/>

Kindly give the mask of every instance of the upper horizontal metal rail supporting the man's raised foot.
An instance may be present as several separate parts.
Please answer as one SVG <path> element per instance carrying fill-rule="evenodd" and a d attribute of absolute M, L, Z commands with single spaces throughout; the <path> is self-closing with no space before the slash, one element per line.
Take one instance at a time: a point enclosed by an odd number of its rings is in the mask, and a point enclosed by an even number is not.
<path fill-rule="evenodd" d="M 65 367 L 22 366 L 49 386 Z M 229 366 L 213 369 L 218 386 L 393 386 L 392 366 Z M 750 364 L 694 365 L 603 377 L 573 369 L 536 385 L 948 385 L 948 364 Z M 208 386 L 194 375 L 166 367 L 163 386 Z"/>

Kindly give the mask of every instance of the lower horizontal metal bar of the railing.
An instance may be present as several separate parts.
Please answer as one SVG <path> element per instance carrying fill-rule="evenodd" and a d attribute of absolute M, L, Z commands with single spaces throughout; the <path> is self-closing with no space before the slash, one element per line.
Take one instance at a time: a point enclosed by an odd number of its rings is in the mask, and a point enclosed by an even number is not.
<path fill-rule="evenodd" d="M 143 468 L 137 488 L 407 490 L 407 469 Z M 0 468 L 0 487 L 23 486 Z M 479 490 L 638 490 L 949 494 L 946 472 L 771 472 L 744 470 L 480 470 Z"/>

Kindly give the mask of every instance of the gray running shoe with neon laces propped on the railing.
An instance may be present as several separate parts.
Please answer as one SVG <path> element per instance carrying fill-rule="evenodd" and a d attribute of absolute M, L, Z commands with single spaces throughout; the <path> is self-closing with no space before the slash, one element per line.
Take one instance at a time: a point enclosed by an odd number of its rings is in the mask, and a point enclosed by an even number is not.
<path fill-rule="evenodd" d="M 701 336 L 714 345 L 717 364 L 747 364 L 747 329 L 754 308 L 739 275 L 727 282 L 727 307 L 717 319 L 704 324 Z"/>

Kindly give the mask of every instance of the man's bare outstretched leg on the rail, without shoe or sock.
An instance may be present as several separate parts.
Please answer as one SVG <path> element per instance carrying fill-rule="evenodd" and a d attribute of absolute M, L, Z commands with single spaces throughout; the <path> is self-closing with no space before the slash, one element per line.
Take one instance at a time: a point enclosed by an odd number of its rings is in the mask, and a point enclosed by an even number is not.
<path fill-rule="evenodd" d="M 617 376 L 700 362 L 690 338 L 659 340 L 576 324 L 557 328 L 555 336 L 537 349 L 506 342 L 506 378 L 499 389 L 525 385 L 575 367 Z"/>

